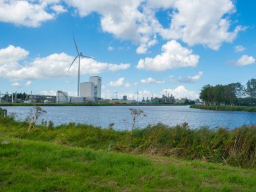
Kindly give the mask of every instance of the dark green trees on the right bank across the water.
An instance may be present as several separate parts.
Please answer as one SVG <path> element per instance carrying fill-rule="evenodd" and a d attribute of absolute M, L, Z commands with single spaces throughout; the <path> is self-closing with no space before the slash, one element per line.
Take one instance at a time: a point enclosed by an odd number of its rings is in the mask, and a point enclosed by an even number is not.
<path fill-rule="evenodd" d="M 216 86 L 205 85 L 199 98 L 206 105 L 254 105 L 256 104 L 256 79 L 250 79 L 245 86 L 241 83 Z"/>

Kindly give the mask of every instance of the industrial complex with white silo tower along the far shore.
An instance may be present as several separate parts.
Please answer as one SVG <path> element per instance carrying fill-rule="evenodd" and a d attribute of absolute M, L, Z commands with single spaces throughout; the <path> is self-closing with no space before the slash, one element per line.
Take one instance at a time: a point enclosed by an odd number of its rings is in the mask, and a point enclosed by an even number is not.
<path fill-rule="evenodd" d="M 82 82 L 79 84 L 79 94 L 78 96 L 69 96 L 67 92 L 58 90 L 56 96 L 47 96 L 47 95 L 38 95 L 38 94 L 1 94 L 0 93 L 0 103 L 1 102 L 14 102 L 14 103 L 49 103 L 49 104 L 186 104 L 187 102 L 193 102 L 187 98 L 175 99 L 174 96 L 167 94 L 162 95 L 162 98 L 154 97 L 143 97 L 142 100 L 139 100 L 139 90 L 135 92 L 137 98 L 132 98 L 128 100 L 127 96 L 124 95 L 122 99 L 116 98 L 113 99 L 103 99 L 101 96 L 102 88 L 102 77 L 91 76 L 89 82 Z M 195 102 L 199 102 L 196 100 Z"/>

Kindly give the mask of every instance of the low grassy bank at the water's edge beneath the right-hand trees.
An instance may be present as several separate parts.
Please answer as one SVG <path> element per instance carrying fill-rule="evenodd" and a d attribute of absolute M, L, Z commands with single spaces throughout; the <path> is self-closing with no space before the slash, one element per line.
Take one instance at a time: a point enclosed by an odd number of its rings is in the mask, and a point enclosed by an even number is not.
<path fill-rule="evenodd" d="M 197 105 L 193 104 L 190 108 L 206 109 L 206 110 L 231 110 L 231 111 L 247 111 L 256 112 L 256 106 L 216 106 L 216 105 Z"/>

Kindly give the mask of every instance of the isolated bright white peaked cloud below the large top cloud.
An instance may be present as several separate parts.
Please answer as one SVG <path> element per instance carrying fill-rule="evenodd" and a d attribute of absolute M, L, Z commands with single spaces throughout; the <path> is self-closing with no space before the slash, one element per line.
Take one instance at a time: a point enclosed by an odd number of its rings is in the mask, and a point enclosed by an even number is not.
<path fill-rule="evenodd" d="M 165 71 L 178 67 L 195 67 L 199 62 L 199 55 L 181 46 L 176 40 L 170 40 L 162 46 L 162 54 L 154 58 L 140 59 L 138 69 Z"/>

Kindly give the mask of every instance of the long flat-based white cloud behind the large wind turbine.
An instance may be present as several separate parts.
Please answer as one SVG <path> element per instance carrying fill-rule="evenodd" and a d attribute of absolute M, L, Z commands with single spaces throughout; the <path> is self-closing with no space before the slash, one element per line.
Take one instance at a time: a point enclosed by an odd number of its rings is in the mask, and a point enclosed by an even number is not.
<path fill-rule="evenodd" d="M 66 53 L 55 53 L 46 57 L 37 57 L 32 61 L 22 60 L 28 56 L 28 51 L 9 45 L 5 49 L 0 49 L 0 76 L 9 79 L 44 79 L 51 77 L 67 77 L 77 75 L 77 61 L 73 63 L 71 69 L 69 65 L 73 57 Z M 81 71 L 84 74 L 99 74 L 104 71 L 118 71 L 130 67 L 128 63 L 120 65 L 113 63 L 102 63 L 94 59 L 81 59 Z"/>

